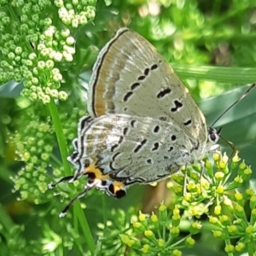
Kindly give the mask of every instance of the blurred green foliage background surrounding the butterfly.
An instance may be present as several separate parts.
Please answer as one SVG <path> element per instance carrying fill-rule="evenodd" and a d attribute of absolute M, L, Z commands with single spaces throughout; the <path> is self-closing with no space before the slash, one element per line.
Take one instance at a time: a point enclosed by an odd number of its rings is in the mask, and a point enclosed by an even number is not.
<path fill-rule="evenodd" d="M 67 218 L 58 218 L 58 212 L 83 188 L 83 181 L 60 185 L 54 191 L 47 189 L 47 184 L 55 178 L 73 172 L 65 159 L 73 150 L 77 122 L 86 113 L 86 86 L 96 55 L 120 27 L 128 26 L 137 31 L 154 44 L 183 79 L 196 102 L 200 102 L 210 125 L 247 89 L 241 85 L 256 80 L 256 1 L 65 1 L 66 8 L 74 9 L 76 14 L 79 14 L 78 4 L 92 7 L 86 22 L 75 26 L 61 21 L 58 13 L 61 1 L 0 0 L 0 12 L 10 19 L 8 23 L 8 19 L 1 16 L 3 34 L 14 33 L 12 22 L 22 23 L 21 7 L 26 3 L 41 6 L 38 17 L 52 20 L 57 30 L 70 30 L 75 39 L 72 45 L 75 53 L 71 61 L 54 60 L 61 80 L 54 88 L 57 94 L 53 94 L 55 91 L 49 94 L 50 102 L 38 98 L 32 101 L 29 99 L 31 90 L 24 93 L 29 78 L 4 75 L 7 70 L 2 61 L 6 58 L 3 55 L 6 45 L 3 45 L 3 35 L 0 36 L 0 253 L 90 255 L 96 244 L 96 254 L 114 255 L 113 250 L 99 249 L 102 243 L 97 240 L 98 232 L 108 239 L 108 244 L 124 231 L 125 221 L 129 222 L 131 214 L 142 207 L 143 187 L 137 185 L 129 189 L 121 201 L 107 198 L 99 191 L 90 191 L 81 201 L 85 210 L 77 203 Z M 5 22 L 9 25 L 3 26 Z M 33 29 L 38 35 L 44 33 L 43 28 L 35 26 Z M 17 28 L 15 33 L 23 37 L 26 32 Z M 38 53 L 39 40 L 39 37 L 24 36 L 18 45 L 29 54 Z M 24 63 L 17 65 L 26 66 Z M 231 91 L 226 93 L 228 90 Z M 23 91 L 22 96 L 20 91 Z M 213 97 L 205 100 L 209 96 Z M 256 166 L 255 97 L 253 90 L 217 124 L 223 126 L 223 137 L 239 148 L 241 158 L 246 159 L 252 169 Z M 62 137 L 55 136 L 57 130 Z M 250 186 L 253 187 L 253 179 Z M 107 220 L 113 223 L 111 231 L 104 228 Z M 202 230 L 201 237 L 197 238 L 196 247 L 184 250 L 183 255 L 192 252 L 226 255 L 222 242 L 213 239 L 209 229 Z M 122 246 L 125 247 L 119 244 Z M 129 254 L 125 249 L 120 250 L 124 255 L 137 255 L 137 251 Z"/>

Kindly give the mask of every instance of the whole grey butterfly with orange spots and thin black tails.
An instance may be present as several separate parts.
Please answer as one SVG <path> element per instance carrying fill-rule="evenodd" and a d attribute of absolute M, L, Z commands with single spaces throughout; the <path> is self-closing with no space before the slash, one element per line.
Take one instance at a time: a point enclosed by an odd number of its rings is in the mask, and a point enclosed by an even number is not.
<path fill-rule="evenodd" d="M 98 55 L 87 105 L 89 115 L 79 120 L 68 158 L 76 172 L 57 182 L 87 176 L 87 183 L 61 217 L 92 188 L 121 198 L 134 183 L 160 181 L 202 160 L 218 142 L 220 131 L 207 128 L 172 67 L 128 28 L 119 29 Z"/>

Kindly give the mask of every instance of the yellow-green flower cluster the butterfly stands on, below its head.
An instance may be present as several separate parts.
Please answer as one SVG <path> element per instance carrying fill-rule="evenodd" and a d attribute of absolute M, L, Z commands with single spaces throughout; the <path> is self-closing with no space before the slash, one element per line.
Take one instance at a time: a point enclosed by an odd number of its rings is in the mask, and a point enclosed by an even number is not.
<path fill-rule="evenodd" d="M 205 166 L 196 168 L 188 166 L 186 178 L 183 174 L 176 173 L 172 176 L 175 182 L 168 183 L 167 186 L 176 195 L 180 207 L 189 212 L 191 216 L 200 216 L 207 213 L 207 204 L 216 203 L 214 212 L 220 214 L 220 204 L 228 204 L 234 198 L 230 196 L 231 191 L 240 189 L 241 185 L 251 176 L 252 170 L 244 162 L 240 162 L 236 154 L 231 160 L 229 167 L 229 158 L 226 154 L 214 154 L 213 162 L 205 160 Z M 201 170 L 202 169 L 202 170 Z M 185 184 L 185 188 L 183 185 Z M 239 197 L 235 199 L 239 200 Z M 201 201 L 204 201 L 202 204 Z"/>

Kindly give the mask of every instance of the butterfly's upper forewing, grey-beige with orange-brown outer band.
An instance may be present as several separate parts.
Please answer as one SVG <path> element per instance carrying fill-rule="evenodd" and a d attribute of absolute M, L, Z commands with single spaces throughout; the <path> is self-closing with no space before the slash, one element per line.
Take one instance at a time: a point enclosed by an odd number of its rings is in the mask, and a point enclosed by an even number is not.
<path fill-rule="evenodd" d="M 126 113 L 172 122 L 207 141 L 201 110 L 156 49 L 137 32 L 120 29 L 100 52 L 90 80 L 91 116 Z"/>

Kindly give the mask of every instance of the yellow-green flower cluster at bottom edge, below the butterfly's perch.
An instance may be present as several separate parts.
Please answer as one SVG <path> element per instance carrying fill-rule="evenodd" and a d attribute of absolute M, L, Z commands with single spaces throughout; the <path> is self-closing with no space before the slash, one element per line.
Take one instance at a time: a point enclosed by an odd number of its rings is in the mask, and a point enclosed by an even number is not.
<path fill-rule="evenodd" d="M 157 215 L 154 212 L 150 215 L 140 212 L 137 217 L 133 217 L 131 229 L 120 235 L 120 239 L 126 247 L 138 254 L 181 255 L 181 248 L 194 246 L 195 241 L 191 235 L 201 230 L 201 224 L 192 223 L 189 236 L 178 238 L 180 221 L 181 215 L 177 207 L 168 212 L 166 206 L 161 204 Z"/>

